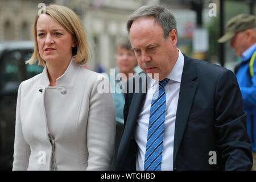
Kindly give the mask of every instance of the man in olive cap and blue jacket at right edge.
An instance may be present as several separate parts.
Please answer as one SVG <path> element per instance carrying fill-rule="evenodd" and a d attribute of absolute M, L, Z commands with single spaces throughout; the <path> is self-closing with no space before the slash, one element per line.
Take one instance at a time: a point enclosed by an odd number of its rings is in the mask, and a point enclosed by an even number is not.
<path fill-rule="evenodd" d="M 241 60 L 235 72 L 243 98 L 243 109 L 247 113 L 247 132 L 253 148 L 256 170 L 256 16 L 240 14 L 226 24 L 226 33 L 218 42 L 230 41 Z"/>

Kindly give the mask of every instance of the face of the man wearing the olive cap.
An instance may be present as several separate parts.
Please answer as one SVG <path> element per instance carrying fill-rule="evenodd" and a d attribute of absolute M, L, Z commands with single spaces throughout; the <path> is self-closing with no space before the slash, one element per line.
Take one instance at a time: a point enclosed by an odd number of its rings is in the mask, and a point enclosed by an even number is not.
<path fill-rule="evenodd" d="M 246 31 L 238 32 L 230 41 L 230 47 L 234 48 L 237 56 L 242 56 L 242 53 L 250 47 L 249 44 Z"/>

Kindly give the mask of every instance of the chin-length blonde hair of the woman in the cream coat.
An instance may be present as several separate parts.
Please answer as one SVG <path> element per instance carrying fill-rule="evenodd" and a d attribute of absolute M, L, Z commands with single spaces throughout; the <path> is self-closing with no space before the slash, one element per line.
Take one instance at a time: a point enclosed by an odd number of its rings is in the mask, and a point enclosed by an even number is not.
<path fill-rule="evenodd" d="M 65 30 L 67 30 L 75 40 L 76 47 L 72 48 L 73 61 L 78 64 L 85 64 L 91 58 L 91 51 L 88 40 L 86 39 L 85 29 L 80 18 L 75 12 L 68 7 L 60 5 L 46 6 L 46 14 L 50 15 L 57 23 L 59 23 Z M 38 60 L 38 65 L 46 65 L 46 61 L 42 59 L 38 50 L 38 41 L 36 38 L 36 24 L 39 15 L 36 14 L 33 26 L 33 39 L 35 43 L 35 50 L 32 57 L 26 62 L 28 64 L 35 64 Z"/>

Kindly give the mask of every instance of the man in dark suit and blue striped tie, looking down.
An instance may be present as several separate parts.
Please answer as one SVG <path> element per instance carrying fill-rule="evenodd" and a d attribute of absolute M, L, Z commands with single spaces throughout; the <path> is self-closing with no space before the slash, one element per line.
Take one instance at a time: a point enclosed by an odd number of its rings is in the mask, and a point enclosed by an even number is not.
<path fill-rule="evenodd" d="M 183 55 L 176 20 L 162 6 L 136 10 L 127 30 L 144 72 L 137 76 L 140 93 L 134 93 L 136 76 L 127 81 L 117 169 L 250 170 L 246 113 L 234 74 Z M 151 84 L 142 81 L 144 74 Z"/>

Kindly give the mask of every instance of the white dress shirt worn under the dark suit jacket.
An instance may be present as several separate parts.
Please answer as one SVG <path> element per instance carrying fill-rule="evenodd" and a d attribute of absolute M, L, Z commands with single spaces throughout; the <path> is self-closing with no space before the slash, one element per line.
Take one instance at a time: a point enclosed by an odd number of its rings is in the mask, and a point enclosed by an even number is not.
<path fill-rule="evenodd" d="M 166 118 L 164 121 L 164 139 L 163 139 L 163 154 L 162 154 L 162 171 L 173 170 L 174 159 L 174 130 L 177 111 L 177 103 L 180 92 L 181 75 L 184 66 L 184 56 L 179 50 L 179 57 L 174 65 L 174 68 L 167 76 L 170 79 L 164 87 L 166 92 Z M 150 78 L 152 79 L 152 78 Z M 151 88 L 148 89 L 146 99 L 144 101 L 142 111 L 139 114 L 137 125 L 135 126 L 134 138 L 137 142 L 138 151 L 136 159 L 137 171 L 144 170 L 144 158 L 146 153 L 148 122 L 150 115 L 150 107 L 152 101 L 152 93 L 157 88 L 154 86 L 155 80 L 151 80 Z"/>

